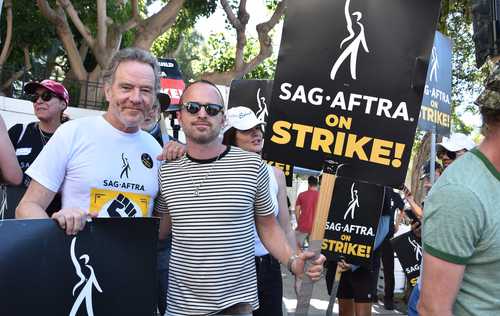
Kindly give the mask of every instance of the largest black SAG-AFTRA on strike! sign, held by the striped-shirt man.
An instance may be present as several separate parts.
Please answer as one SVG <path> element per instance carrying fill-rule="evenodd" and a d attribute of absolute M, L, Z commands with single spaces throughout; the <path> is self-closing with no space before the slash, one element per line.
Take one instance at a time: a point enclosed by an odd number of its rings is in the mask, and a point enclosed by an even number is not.
<path fill-rule="evenodd" d="M 439 0 L 291 0 L 264 158 L 316 170 L 330 158 L 355 167 L 356 179 L 400 186 L 439 7 Z"/>

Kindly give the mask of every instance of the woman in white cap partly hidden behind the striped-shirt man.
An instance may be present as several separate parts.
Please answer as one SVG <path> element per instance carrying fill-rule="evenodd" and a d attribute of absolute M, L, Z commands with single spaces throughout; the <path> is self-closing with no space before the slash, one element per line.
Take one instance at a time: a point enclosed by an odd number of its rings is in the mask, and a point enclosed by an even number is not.
<path fill-rule="evenodd" d="M 243 106 L 233 107 L 227 111 L 228 127 L 222 143 L 227 146 L 237 146 L 243 150 L 260 154 L 264 146 L 264 121 L 255 113 Z M 295 233 L 291 229 L 286 203 L 285 174 L 279 168 L 266 165 L 269 173 L 269 189 L 274 204 L 274 216 L 277 217 L 285 232 L 290 246 L 296 245 Z M 253 315 L 282 315 L 283 282 L 280 263 L 264 247 L 257 234 L 255 235 L 255 268 L 257 269 L 257 289 L 259 292 L 259 309 Z"/>

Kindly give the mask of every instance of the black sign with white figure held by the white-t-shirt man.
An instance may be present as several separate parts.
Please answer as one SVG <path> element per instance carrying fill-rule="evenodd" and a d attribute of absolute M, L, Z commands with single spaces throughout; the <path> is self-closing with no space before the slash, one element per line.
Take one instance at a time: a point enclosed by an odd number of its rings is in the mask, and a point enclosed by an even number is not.
<path fill-rule="evenodd" d="M 0 221 L 0 315 L 87 315 L 85 299 L 70 312 L 92 274 L 94 315 L 152 315 L 158 222 L 96 219 L 67 236 L 49 219 Z"/>

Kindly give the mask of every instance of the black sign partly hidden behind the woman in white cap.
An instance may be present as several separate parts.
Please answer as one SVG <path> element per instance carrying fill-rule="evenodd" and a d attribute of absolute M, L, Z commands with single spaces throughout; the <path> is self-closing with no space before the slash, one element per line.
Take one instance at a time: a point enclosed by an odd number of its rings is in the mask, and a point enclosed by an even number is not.
<path fill-rule="evenodd" d="M 257 118 L 267 123 L 273 90 L 272 80 L 233 80 L 229 91 L 228 109 L 244 106 L 252 109 Z M 293 166 L 276 161 L 267 161 L 271 166 L 283 170 L 286 185 L 291 187 L 293 182 Z"/>

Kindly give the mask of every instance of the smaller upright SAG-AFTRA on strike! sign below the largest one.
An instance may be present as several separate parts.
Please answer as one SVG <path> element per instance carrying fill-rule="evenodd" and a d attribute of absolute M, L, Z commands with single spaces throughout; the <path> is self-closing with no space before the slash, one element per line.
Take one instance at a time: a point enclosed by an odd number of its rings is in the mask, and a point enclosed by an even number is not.
<path fill-rule="evenodd" d="M 321 245 L 328 260 L 369 266 L 384 201 L 384 187 L 337 177 Z"/>

